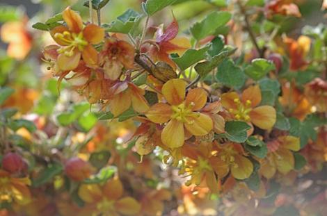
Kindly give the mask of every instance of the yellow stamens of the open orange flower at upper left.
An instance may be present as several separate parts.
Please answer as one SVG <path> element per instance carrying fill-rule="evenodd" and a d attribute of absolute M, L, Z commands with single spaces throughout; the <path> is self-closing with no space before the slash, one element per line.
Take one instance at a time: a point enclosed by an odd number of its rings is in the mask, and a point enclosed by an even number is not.
<path fill-rule="evenodd" d="M 88 44 L 83 38 L 83 33 L 70 33 L 69 31 L 64 31 L 63 33 L 56 33 L 54 38 L 61 40 L 61 42 L 67 44 L 65 47 L 58 49 L 58 53 L 64 53 L 65 56 L 72 56 L 74 54 L 74 49 L 77 48 L 79 51 L 83 51 L 84 47 Z"/>

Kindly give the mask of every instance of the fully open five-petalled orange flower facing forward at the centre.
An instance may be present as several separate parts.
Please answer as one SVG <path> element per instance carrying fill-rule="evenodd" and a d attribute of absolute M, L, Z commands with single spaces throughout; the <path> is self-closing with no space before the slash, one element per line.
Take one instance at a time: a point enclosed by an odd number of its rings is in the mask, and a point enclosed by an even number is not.
<path fill-rule="evenodd" d="M 185 98 L 186 82 L 174 78 L 162 87 L 162 94 L 169 103 L 156 103 L 146 113 L 150 121 L 166 126 L 161 133 L 161 141 L 170 148 L 182 147 L 185 130 L 192 135 L 206 135 L 212 131 L 212 119 L 197 112 L 207 102 L 207 94 L 201 88 L 189 90 Z"/>

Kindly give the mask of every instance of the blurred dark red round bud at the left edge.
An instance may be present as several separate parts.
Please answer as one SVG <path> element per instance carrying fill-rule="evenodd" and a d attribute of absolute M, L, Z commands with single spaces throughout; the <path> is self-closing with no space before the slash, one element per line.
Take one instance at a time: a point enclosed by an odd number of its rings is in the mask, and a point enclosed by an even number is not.
<path fill-rule="evenodd" d="M 22 156 L 17 153 L 9 152 L 2 158 L 2 168 L 14 174 L 26 170 L 27 164 Z"/>

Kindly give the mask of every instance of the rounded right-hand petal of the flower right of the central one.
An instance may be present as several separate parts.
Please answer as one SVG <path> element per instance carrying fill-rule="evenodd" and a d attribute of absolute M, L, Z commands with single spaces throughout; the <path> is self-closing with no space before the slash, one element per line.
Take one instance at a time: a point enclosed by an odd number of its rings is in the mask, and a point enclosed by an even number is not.
<path fill-rule="evenodd" d="M 251 122 L 264 130 L 269 130 L 276 123 L 276 110 L 272 106 L 258 106 L 249 113 Z"/>

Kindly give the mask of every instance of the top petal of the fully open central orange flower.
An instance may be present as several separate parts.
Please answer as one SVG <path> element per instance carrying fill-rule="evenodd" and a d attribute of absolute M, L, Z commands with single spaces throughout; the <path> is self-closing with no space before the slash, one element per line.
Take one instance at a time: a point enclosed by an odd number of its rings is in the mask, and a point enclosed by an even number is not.
<path fill-rule="evenodd" d="M 161 89 L 163 97 L 172 105 L 178 105 L 185 99 L 186 82 L 181 78 L 173 78 Z"/>

